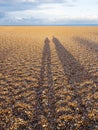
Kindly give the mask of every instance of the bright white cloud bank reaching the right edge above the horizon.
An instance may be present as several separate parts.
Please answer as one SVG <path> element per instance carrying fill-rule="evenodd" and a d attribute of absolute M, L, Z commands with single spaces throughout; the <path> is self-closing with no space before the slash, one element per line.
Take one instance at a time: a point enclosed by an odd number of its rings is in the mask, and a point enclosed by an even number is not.
<path fill-rule="evenodd" d="M 58 10 L 59 9 L 59 10 Z M 38 19 L 43 24 L 68 24 L 70 21 L 74 22 L 94 22 L 98 21 L 97 15 L 85 15 L 82 16 L 76 15 L 72 16 L 71 14 L 66 13 L 65 7 L 62 4 L 48 4 L 40 5 L 33 10 L 24 10 L 24 11 L 15 11 L 8 14 L 11 19 L 25 21 L 28 19 L 33 24 L 33 19 Z M 38 23 L 38 21 L 36 21 Z"/>

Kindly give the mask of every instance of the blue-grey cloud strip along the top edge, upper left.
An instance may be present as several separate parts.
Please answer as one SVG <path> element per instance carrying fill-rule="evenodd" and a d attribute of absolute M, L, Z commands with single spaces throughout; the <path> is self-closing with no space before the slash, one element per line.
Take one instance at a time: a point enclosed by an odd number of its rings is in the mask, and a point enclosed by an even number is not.
<path fill-rule="evenodd" d="M 72 1 L 66 1 L 66 0 L 1 0 L 0 3 L 1 3 L 0 11 L 3 10 L 4 12 L 14 12 L 30 9 L 34 10 L 35 8 L 37 9 L 38 7 L 51 9 L 55 8 L 57 4 L 65 7 L 75 6 L 75 4 Z"/>

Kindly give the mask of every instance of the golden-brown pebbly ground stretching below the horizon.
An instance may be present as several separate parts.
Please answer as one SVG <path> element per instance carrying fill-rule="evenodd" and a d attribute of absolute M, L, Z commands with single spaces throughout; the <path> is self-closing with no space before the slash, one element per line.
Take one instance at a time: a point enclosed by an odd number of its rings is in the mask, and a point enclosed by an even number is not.
<path fill-rule="evenodd" d="M 0 130 L 98 130 L 98 27 L 0 27 Z"/>

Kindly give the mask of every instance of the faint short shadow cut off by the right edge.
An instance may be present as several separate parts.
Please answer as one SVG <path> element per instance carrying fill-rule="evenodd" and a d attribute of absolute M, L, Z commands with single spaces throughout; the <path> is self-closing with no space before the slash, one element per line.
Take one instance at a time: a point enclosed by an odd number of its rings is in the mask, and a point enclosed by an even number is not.
<path fill-rule="evenodd" d="M 90 41 L 88 39 L 80 38 L 80 37 L 74 37 L 73 38 L 75 41 L 83 44 L 87 48 L 91 49 L 95 54 L 98 55 L 98 43 L 94 41 Z"/>

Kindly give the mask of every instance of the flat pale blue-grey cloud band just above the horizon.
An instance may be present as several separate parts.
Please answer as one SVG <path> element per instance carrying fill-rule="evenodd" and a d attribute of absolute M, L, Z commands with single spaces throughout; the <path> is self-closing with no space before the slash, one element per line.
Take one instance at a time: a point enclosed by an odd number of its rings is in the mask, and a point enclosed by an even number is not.
<path fill-rule="evenodd" d="M 2 25 L 92 25 L 98 24 L 98 19 L 79 19 L 79 18 L 67 18 L 66 19 L 41 19 L 41 18 L 18 18 L 6 19 L 6 22 L 2 21 Z"/>

